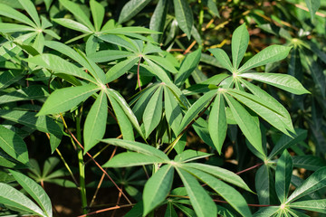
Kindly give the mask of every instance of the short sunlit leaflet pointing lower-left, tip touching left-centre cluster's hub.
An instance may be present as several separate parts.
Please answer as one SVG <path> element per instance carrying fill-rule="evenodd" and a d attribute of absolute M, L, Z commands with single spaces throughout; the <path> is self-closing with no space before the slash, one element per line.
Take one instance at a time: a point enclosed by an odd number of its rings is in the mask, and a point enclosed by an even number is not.
<path fill-rule="evenodd" d="M 108 72 L 106 72 L 106 83 L 110 83 L 112 80 L 119 79 L 124 73 L 129 71 L 136 62 L 139 61 L 139 57 L 129 57 L 125 61 L 120 61 L 118 64 L 115 64 Z"/>

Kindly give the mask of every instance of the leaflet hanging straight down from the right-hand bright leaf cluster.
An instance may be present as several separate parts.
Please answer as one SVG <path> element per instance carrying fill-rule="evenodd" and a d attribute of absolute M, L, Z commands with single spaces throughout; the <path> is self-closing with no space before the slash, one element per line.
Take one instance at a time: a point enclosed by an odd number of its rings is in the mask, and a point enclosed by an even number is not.
<path fill-rule="evenodd" d="M 216 150 L 221 155 L 221 150 L 226 137 L 227 123 L 225 115 L 225 101 L 220 92 L 217 93 L 208 118 L 209 135 Z"/>

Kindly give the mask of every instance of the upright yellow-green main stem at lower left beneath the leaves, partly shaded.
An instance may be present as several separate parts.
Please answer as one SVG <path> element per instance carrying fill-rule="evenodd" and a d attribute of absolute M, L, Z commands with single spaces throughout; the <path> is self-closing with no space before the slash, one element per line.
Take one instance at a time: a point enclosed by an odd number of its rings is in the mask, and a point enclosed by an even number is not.
<path fill-rule="evenodd" d="M 76 131 L 78 141 L 82 141 L 82 129 L 81 129 L 81 114 L 76 114 Z M 83 162 L 82 148 L 77 148 L 78 153 L 78 165 L 80 169 L 80 188 L 81 188 L 81 199 L 82 199 L 82 213 L 87 213 L 87 197 L 85 187 L 85 165 Z"/>

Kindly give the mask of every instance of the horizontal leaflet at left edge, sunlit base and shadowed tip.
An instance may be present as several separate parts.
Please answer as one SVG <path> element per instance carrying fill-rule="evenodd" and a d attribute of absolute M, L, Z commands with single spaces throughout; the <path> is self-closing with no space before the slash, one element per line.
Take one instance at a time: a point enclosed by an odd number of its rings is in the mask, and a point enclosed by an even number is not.
<path fill-rule="evenodd" d="M 34 85 L 20 90 L 14 90 L 0 97 L 0 104 L 30 99 L 44 99 L 49 95 L 43 86 Z"/>

